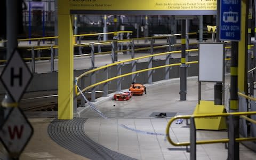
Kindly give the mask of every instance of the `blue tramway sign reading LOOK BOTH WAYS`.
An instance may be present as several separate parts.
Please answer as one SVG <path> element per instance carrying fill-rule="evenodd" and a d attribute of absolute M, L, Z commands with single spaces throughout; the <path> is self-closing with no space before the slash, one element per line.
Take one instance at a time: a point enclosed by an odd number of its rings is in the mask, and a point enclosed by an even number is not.
<path fill-rule="evenodd" d="M 240 41 L 241 39 L 241 0 L 221 0 L 220 40 Z"/>

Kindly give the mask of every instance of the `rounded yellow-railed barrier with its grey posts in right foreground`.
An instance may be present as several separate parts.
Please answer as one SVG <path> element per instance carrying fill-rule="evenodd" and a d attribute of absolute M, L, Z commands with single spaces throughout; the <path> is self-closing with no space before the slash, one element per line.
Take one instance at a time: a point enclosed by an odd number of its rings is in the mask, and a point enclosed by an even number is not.
<path fill-rule="evenodd" d="M 245 115 L 255 115 L 256 111 L 251 112 L 236 112 L 236 113 L 222 113 L 222 114 L 202 114 L 202 115 L 184 115 L 184 116 L 175 116 L 170 119 L 166 126 L 166 139 L 173 145 L 173 146 L 190 146 L 190 160 L 196 159 L 196 145 L 203 145 L 203 144 L 210 144 L 210 143 L 227 143 L 234 144 L 235 142 L 242 142 L 242 141 L 256 141 L 256 137 L 250 138 L 235 138 L 234 136 L 234 116 L 240 116 L 241 118 L 246 119 L 247 121 L 256 124 L 256 121 L 246 117 Z M 196 140 L 196 127 L 195 127 L 195 118 L 204 118 L 204 117 L 227 117 L 228 118 L 228 126 L 229 126 L 229 138 L 225 139 L 217 139 L 217 140 Z M 174 142 L 170 137 L 170 126 L 176 119 L 190 119 L 190 142 Z M 230 150 L 233 146 L 229 146 L 229 156 Z M 233 154 L 234 155 L 234 154 Z M 234 157 L 229 157 L 229 159 L 235 159 Z"/>

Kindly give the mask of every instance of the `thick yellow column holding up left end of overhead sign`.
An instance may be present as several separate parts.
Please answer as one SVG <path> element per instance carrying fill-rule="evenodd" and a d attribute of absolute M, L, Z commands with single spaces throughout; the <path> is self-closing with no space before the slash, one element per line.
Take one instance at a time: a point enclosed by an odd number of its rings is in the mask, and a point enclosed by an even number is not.
<path fill-rule="evenodd" d="M 71 15 L 58 15 L 58 119 L 73 119 L 73 27 Z"/>

